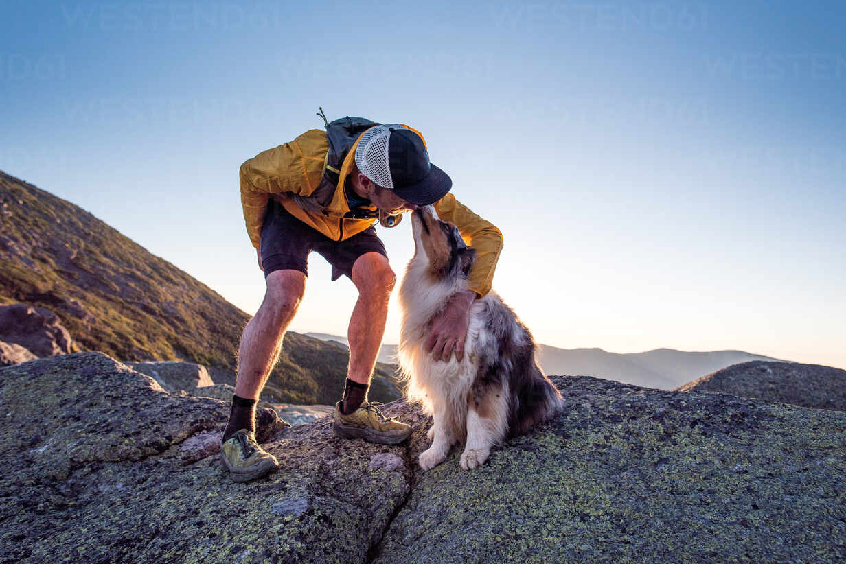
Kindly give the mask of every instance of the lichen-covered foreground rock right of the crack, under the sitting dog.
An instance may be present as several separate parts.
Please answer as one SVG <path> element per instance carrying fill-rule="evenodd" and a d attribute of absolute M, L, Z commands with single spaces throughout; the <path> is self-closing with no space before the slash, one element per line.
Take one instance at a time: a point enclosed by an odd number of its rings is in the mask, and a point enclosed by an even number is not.
<path fill-rule="evenodd" d="M 415 472 L 374 562 L 846 561 L 846 413 L 553 376 L 565 407 L 472 472 Z M 409 408 L 383 410 L 427 424 Z"/>

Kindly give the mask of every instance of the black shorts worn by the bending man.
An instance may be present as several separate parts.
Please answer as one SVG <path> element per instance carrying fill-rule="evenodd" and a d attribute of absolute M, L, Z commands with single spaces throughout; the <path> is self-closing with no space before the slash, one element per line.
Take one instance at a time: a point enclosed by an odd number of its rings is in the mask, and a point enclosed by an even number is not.
<path fill-rule="evenodd" d="M 307 258 L 313 250 L 332 265 L 332 280 L 338 280 L 342 274 L 352 280 L 353 263 L 365 253 L 379 253 L 387 258 L 385 245 L 373 227 L 343 241 L 335 241 L 300 222 L 276 200 L 267 202 L 260 249 L 265 278 L 272 271 L 283 269 L 308 276 Z"/>

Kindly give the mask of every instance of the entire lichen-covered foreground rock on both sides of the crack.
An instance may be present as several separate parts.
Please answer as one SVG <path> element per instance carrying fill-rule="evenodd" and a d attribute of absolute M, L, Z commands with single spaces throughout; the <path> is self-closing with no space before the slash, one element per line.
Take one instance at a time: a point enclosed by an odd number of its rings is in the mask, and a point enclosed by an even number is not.
<path fill-rule="evenodd" d="M 455 447 L 421 472 L 431 419 L 394 402 L 404 445 L 274 424 L 281 467 L 237 484 L 215 450 L 226 402 L 100 353 L 9 366 L 0 561 L 846 559 L 846 413 L 552 381 L 563 412 L 474 471 Z"/>

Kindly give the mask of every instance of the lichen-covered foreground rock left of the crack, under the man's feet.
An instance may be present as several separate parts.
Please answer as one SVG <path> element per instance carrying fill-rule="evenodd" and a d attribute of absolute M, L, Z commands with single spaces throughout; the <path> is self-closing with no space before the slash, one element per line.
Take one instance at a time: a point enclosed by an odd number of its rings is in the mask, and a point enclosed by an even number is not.
<path fill-rule="evenodd" d="M 320 425 L 278 427 L 279 471 L 237 484 L 210 456 L 228 405 L 101 353 L 0 369 L 0 416 L 3 562 L 364 561 L 409 490 L 370 466 L 403 447 Z"/>

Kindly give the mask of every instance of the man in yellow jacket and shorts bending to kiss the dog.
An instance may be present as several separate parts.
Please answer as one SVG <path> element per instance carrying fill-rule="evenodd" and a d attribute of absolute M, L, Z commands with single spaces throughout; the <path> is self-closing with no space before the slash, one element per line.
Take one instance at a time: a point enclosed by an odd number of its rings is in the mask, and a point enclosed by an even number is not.
<path fill-rule="evenodd" d="M 373 224 L 393 227 L 404 211 L 433 204 L 476 249 L 471 289 L 432 320 L 427 346 L 436 359 L 448 360 L 453 352 L 463 357 L 470 305 L 491 289 L 503 247 L 497 227 L 448 194 L 451 179 L 431 165 L 426 142 L 415 129 L 349 117 L 326 123 L 326 129 L 310 129 L 240 168 L 244 220 L 267 288 L 244 327 L 222 436 L 222 460 L 235 481 L 278 468 L 276 457 L 255 441 L 255 402 L 303 297 L 312 250 L 332 264 L 332 280 L 346 275 L 359 291 L 349 320 L 348 377 L 332 429 L 345 438 L 397 444 L 408 437 L 409 425 L 387 419 L 366 400 L 396 280 Z"/>

